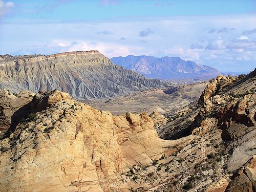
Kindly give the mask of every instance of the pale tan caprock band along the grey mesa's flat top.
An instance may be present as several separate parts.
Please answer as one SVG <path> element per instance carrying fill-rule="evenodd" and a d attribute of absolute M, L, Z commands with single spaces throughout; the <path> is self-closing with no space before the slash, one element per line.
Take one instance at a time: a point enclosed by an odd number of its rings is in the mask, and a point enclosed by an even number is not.
<path fill-rule="evenodd" d="M 97 50 L 91 51 L 71 51 L 71 52 L 63 52 L 63 53 L 56 53 L 50 55 L 1 55 L 0 56 L 0 65 L 11 64 L 10 62 L 14 62 L 15 64 L 22 64 L 28 61 L 39 61 L 39 60 L 48 60 L 51 58 L 58 58 L 58 57 L 65 57 L 65 56 L 83 56 L 83 55 L 94 55 L 100 54 Z M 101 54 L 100 54 L 101 55 Z M 102 55 L 103 56 L 103 55 Z"/>

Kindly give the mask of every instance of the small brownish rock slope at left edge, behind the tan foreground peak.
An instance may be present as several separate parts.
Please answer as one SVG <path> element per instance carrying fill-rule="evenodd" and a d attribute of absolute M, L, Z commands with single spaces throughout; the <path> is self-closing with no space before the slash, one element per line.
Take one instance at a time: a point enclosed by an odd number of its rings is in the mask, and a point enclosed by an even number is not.
<path fill-rule="evenodd" d="M 25 91 L 14 95 L 10 91 L 0 90 L 0 131 L 2 133 L 10 127 L 14 112 L 32 101 L 33 97 L 34 93 L 31 92 Z"/>

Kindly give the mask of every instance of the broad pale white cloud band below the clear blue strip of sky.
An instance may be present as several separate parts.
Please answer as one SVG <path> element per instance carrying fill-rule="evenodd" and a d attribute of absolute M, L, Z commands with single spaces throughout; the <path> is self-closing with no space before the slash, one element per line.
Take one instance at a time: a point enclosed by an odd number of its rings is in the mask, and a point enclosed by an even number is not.
<path fill-rule="evenodd" d="M 243 31 L 255 28 L 255 19 L 255 15 L 248 14 L 121 18 L 74 23 L 2 23 L 0 53 L 51 54 L 95 49 L 108 57 L 130 54 L 179 56 L 219 70 L 227 71 L 230 65 L 234 69 L 252 70 L 256 42 L 253 34 L 245 35 Z M 228 32 L 218 33 L 223 26 Z M 147 30 L 150 33 L 143 33 L 148 36 L 139 35 L 144 31 L 142 29 L 150 29 Z M 211 29 L 214 32 L 208 33 Z M 246 62 L 253 64 L 237 60 L 246 54 Z M 236 63 L 231 63 L 234 60 Z"/>

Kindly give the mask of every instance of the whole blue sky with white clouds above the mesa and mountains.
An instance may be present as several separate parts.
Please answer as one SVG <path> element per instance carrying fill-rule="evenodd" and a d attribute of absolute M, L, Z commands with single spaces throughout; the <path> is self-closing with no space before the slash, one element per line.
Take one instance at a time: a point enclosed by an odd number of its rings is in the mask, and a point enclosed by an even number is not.
<path fill-rule="evenodd" d="M 0 54 L 99 50 L 256 67 L 256 0 L 0 0 Z"/>

